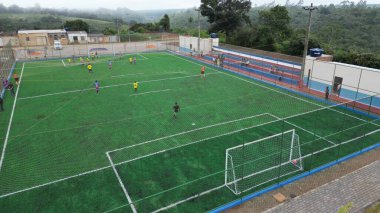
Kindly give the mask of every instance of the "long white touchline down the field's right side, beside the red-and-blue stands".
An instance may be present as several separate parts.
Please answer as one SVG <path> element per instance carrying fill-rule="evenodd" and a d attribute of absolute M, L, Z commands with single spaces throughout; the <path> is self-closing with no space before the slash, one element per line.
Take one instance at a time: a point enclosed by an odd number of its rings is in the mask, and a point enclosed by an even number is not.
<path fill-rule="evenodd" d="M 174 54 L 171 54 L 171 53 L 167 53 L 167 54 L 168 54 L 168 55 L 171 55 L 171 56 L 173 56 L 173 57 L 180 58 L 180 59 L 182 59 L 182 60 L 188 61 L 188 62 L 193 63 L 193 64 L 201 65 L 200 63 L 197 63 L 197 62 L 194 62 L 194 61 L 191 61 L 191 60 L 188 60 L 188 59 L 182 58 L 182 57 L 180 57 L 180 56 L 177 56 L 177 55 L 174 55 Z M 212 69 L 212 70 L 218 71 L 218 70 L 216 70 L 216 69 L 214 69 L 214 68 L 212 68 L 212 67 L 210 67 L 210 66 L 207 66 L 207 67 L 209 67 L 209 68 Z M 306 103 L 309 103 L 309 104 L 312 104 L 312 105 L 315 105 L 315 106 L 319 106 L 319 107 L 327 108 L 327 107 L 325 107 L 325 106 L 323 106 L 323 105 L 320 105 L 320 104 L 317 104 L 317 103 L 314 103 L 314 102 L 311 102 L 311 101 L 305 100 L 305 99 L 303 99 L 303 98 L 299 98 L 299 97 L 293 96 L 293 95 L 291 95 L 291 94 L 288 94 L 288 93 L 286 93 L 286 92 L 282 92 L 282 91 L 276 90 L 276 89 L 274 89 L 274 88 L 270 88 L 270 87 L 267 87 L 267 86 L 264 86 L 264 85 L 261 85 L 261 84 L 257 84 L 257 83 L 255 83 L 255 82 L 253 82 L 253 81 L 251 81 L 251 80 L 247 80 L 247 79 L 244 79 L 244 78 L 241 78 L 241 77 L 235 76 L 235 75 L 230 74 L 230 73 L 227 73 L 227 72 L 221 72 L 221 73 L 223 73 L 223 74 L 225 74 L 225 75 L 228 75 L 228 76 L 230 76 L 230 77 L 232 77 L 232 78 L 239 79 L 239 80 L 241 80 L 241 81 L 244 81 L 244 82 L 247 82 L 247 83 L 250 83 L 250 84 L 253 84 L 253 85 L 256 85 L 256 86 L 259 86 L 259 87 L 262 87 L 262 88 L 265 88 L 265 89 L 268 89 L 268 90 L 271 90 L 271 91 L 274 91 L 274 92 L 277 92 L 277 93 L 280 93 L 280 94 L 283 94 L 283 95 L 286 95 L 286 96 L 289 96 L 289 97 L 292 97 L 292 98 L 295 98 L 295 99 L 297 99 L 297 100 L 300 100 L 300 101 L 303 101 L 303 102 L 306 102 Z M 364 99 L 364 98 L 363 98 L 363 99 Z M 358 99 L 358 100 L 360 100 L 360 99 Z M 355 101 L 357 101 L 357 100 L 355 100 Z M 343 106 L 344 104 L 347 104 L 347 103 L 352 103 L 352 101 L 347 101 L 347 102 L 345 102 L 345 103 L 336 104 L 336 105 L 332 105 L 332 106 L 339 106 L 339 105 L 342 105 L 342 106 Z M 365 121 L 365 122 L 367 122 L 367 121 L 364 120 L 364 119 L 358 118 L 358 117 L 353 116 L 353 115 L 346 114 L 346 113 L 344 113 L 344 112 L 341 112 L 341 111 L 338 111 L 338 110 L 335 110 L 335 109 L 330 109 L 330 110 L 335 111 L 335 112 L 338 112 L 338 113 L 340 113 L 340 114 L 344 114 L 344 115 L 346 115 L 346 116 L 349 116 L 349 117 L 352 117 L 352 118 L 355 118 L 355 119 L 358 119 L 358 120 L 361 120 L 361 121 Z M 378 126 L 380 126 L 380 125 L 378 125 Z"/>

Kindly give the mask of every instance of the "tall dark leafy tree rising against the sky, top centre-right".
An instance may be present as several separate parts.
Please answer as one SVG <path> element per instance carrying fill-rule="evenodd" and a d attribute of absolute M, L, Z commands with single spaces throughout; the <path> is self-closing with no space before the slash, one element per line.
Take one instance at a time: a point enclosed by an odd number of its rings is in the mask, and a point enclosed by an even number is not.
<path fill-rule="evenodd" d="M 225 32 L 227 38 L 242 24 L 250 24 L 250 0 L 201 0 L 201 14 L 211 24 L 210 32 Z"/>

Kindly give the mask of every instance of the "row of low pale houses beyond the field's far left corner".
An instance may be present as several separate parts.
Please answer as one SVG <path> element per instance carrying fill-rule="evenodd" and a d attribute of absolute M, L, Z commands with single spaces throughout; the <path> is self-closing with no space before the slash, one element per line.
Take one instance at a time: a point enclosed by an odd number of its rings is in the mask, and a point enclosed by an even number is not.
<path fill-rule="evenodd" d="M 85 31 L 55 30 L 19 30 L 17 36 L 0 37 L 5 45 L 11 42 L 12 46 L 53 46 L 54 41 L 62 45 L 68 44 L 98 44 L 117 42 L 116 35 L 88 34 Z"/>

